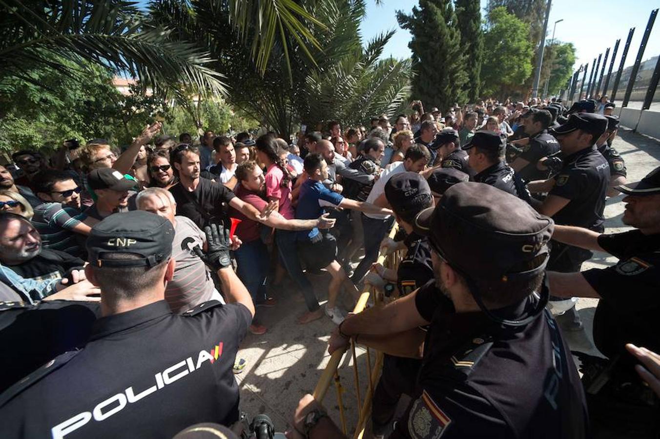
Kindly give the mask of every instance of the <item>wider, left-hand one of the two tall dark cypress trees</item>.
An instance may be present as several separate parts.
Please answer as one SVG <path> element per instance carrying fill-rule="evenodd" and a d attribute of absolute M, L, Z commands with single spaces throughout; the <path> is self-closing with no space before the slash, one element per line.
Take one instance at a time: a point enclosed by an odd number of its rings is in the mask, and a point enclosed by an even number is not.
<path fill-rule="evenodd" d="M 425 108 L 445 111 L 454 102 L 467 102 L 465 55 L 451 0 L 419 0 L 407 15 L 399 11 L 399 26 L 413 34 L 413 98 Z"/>

